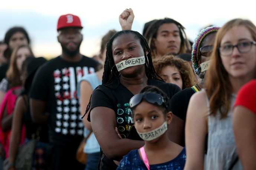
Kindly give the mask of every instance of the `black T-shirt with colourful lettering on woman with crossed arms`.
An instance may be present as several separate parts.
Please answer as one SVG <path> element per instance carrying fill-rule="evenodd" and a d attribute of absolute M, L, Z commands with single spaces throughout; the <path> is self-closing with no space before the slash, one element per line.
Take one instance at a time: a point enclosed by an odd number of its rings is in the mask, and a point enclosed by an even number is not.
<path fill-rule="evenodd" d="M 169 98 L 172 98 L 175 93 L 181 90 L 175 84 L 150 78 L 148 79 L 148 85 L 157 86 L 163 90 Z M 115 111 L 116 125 L 122 138 L 142 140 L 136 132 L 134 122 L 132 121 L 131 109 L 129 108 L 129 100 L 132 96 L 134 96 L 133 93 L 122 85 L 119 79 L 115 79 L 109 85 L 99 86 L 92 93 L 88 120 L 90 121 L 91 109 L 98 106 L 110 108 Z M 101 169 L 109 169 L 109 165 L 104 162 L 104 159 L 105 155 L 103 154 L 101 158 Z"/>

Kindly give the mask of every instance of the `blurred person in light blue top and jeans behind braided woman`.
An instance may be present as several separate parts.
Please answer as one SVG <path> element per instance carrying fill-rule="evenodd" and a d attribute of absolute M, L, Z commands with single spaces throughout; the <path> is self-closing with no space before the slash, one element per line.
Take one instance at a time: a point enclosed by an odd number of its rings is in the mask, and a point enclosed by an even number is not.
<path fill-rule="evenodd" d="M 110 30 L 106 33 L 101 39 L 101 50 L 99 54 L 100 63 L 104 63 L 106 59 L 106 45 L 109 39 L 116 33 L 116 30 Z M 80 110 L 81 115 L 85 114 L 86 106 L 88 105 L 93 90 L 102 84 L 104 68 L 102 67 L 99 71 L 85 75 L 81 78 L 81 81 L 78 84 L 78 97 L 80 98 Z M 91 122 L 87 120 L 88 114 L 83 118 L 83 124 L 85 126 L 84 136 L 88 136 L 92 132 Z M 87 153 L 87 161 L 85 170 L 96 170 L 98 169 L 99 159 L 100 159 L 100 146 L 96 140 L 94 133 L 86 140 L 86 145 L 83 150 Z"/>

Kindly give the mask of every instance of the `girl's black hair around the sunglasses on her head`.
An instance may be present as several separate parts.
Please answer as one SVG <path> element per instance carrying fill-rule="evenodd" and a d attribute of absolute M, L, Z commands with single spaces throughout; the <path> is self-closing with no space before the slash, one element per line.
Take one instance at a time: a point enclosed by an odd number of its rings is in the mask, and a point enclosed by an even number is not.
<path fill-rule="evenodd" d="M 140 91 L 140 94 L 146 94 L 146 93 L 157 93 L 157 94 L 163 96 L 163 98 L 164 98 L 164 104 L 166 105 L 166 107 L 163 106 L 163 105 L 161 105 L 161 106 L 159 106 L 159 105 L 157 105 L 157 104 L 154 104 L 154 105 L 160 107 L 160 108 L 163 110 L 164 115 L 166 115 L 167 112 L 168 112 L 167 108 L 168 108 L 168 101 L 169 101 L 169 98 L 168 98 L 168 96 L 166 95 L 166 93 L 163 92 L 161 89 L 159 89 L 159 88 L 156 87 L 156 86 L 145 86 L 145 87 Z M 146 101 L 146 100 L 143 98 L 142 101 Z M 131 109 L 131 111 L 132 111 L 132 116 L 133 116 L 133 110 L 134 110 L 135 108 L 136 108 L 136 106 Z"/>

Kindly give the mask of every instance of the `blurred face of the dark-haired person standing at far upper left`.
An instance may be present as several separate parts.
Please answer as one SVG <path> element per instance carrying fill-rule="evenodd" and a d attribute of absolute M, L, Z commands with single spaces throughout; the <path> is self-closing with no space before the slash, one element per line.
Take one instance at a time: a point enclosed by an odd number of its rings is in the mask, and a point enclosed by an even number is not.
<path fill-rule="evenodd" d="M 22 32 L 17 32 L 12 35 L 9 41 L 9 48 L 13 50 L 20 45 L 27 45 L 27 38 Z"/>

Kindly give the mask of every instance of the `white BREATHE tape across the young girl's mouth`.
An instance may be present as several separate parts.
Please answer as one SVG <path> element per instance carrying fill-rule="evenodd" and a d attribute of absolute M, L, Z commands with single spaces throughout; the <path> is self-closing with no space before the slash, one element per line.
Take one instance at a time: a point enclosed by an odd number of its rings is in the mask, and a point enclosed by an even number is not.
<path fill-rule="evenodd" d="M 137 133 L 140 135 L 141 139 L 143 139 L 143 140 L 156 139 L 159 136 L 163 135 L 166 130 L 167 130 L 167 122 L 166 121 L 163 123 L 163 125 L 161 125 L 157 129 L 151 130 L 150 132 L 140 133 L 136 129 Z"/>

